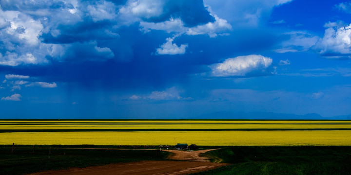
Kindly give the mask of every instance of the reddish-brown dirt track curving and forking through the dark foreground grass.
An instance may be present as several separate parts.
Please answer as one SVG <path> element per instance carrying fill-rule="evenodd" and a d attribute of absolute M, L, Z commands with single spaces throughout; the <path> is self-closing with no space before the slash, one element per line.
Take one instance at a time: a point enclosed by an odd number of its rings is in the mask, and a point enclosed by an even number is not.
<path fill-rule="evenodd" d="M 199 156 L 200 153 L 205 153 L 211 150 L 163 151 L 174 153 L 174 155 L 169 157 L 170 159 L 188 161 L 139 161 L 130 163 L 116 163 L 87 168 L 47 171 L 30 175 L 187 175 L 190 173 L 207 171 L 228 165 L 225 163 L 209 162 L 207 157 Z"/>

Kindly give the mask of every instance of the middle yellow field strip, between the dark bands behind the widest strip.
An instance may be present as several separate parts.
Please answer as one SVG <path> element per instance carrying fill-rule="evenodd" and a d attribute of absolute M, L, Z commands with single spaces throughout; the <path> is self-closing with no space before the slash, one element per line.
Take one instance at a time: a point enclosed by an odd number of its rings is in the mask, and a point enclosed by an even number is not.
<path fill-rule="evenodd" d="M 351 129 L 351 124 L 138 124 L 138 125 L 0 125 L 0 129 Z"/>

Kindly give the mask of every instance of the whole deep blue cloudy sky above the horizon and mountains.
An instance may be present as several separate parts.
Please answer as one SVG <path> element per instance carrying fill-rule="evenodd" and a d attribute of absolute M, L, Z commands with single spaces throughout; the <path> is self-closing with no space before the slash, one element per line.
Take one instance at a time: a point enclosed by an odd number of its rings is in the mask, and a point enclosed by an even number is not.
<path fill-rule="evenodd" d="M 0 118 L 350 115 L 351 1 L 1 0 L 0 99 Z"/>

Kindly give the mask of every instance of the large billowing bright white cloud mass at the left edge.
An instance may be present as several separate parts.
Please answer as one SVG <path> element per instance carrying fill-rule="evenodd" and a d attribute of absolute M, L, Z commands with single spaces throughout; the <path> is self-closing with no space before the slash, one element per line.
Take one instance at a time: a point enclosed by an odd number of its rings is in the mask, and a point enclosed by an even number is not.
<path fill-rule="evenodd" d="M 0 40 L 4 46 L 0 65 L 48 63 L 47 47 L 53 44 L 42 43 L 39 39 L 44 30 L 40 19 L 19 11 L 3 11 L 0 7 Z"/>

